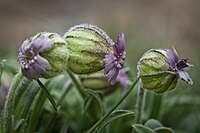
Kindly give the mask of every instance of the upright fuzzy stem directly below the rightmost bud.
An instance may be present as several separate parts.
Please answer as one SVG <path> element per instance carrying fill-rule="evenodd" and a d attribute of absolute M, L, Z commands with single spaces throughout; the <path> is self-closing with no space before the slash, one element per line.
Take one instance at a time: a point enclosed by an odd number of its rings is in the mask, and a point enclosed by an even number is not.
<path fill-rule="evenodd" d="M 142 113 L 145 105 L 145 90 L 139 85 L 137 93 L 136 111 L 135 111 L 135 123 L 141 123 Z"/>

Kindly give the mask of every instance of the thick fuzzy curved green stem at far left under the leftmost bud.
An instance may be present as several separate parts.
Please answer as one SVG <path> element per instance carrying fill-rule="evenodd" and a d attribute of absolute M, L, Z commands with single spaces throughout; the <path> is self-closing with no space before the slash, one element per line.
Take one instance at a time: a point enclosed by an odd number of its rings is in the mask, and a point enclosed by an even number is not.
<path fill-rule="evenodd" d="M 15 79 L 12 82 L 12 85 L 9 89 L 8 95 L 7 95 L 7 100 L 5 103 L 5 107 L 4 107 L 4 115 L 3 115 L 3 129 L 5 133 L 10 132 L 11 130 L 11 115 L 12 115 L 12 105 L 13 105 L 13 98 L 14 98 L 14 94 L 15 91 L 20 83 L 20 81 L 22 80 L 23 75 L 21 72 L 19 72 Z"/>

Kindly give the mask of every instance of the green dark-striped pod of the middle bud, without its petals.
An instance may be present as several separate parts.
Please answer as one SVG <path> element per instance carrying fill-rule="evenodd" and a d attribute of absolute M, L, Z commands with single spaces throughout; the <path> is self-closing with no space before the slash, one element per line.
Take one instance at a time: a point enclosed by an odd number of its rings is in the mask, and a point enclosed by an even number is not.
<path fill-rule="evenodd" d="M 94 25 L 74 26 L 65 33 L 64 38 L 70 50 L 68 67 L 76 74 L 91 74 L 102 70 L 105 55 L 112 54 L 114 42 Z"/>

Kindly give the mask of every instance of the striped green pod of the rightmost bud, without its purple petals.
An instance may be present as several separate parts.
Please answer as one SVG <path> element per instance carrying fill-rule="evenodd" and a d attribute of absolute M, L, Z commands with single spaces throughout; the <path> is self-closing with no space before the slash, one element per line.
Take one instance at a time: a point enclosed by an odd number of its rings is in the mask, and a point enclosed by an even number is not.
<path fill-rule="evenodd" d="M 142 87 L 156 93 L 163 93 L 176 87 L 178 76 L 169 71 L 166 50 L 153 49 L 147 51 L 138 62 L 138 75 Z"/>

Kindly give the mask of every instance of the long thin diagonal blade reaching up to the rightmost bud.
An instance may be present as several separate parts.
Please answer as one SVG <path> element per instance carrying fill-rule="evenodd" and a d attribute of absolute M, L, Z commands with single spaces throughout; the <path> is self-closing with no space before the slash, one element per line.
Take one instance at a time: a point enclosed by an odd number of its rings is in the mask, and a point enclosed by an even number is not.
<path fill-rule="evenodd" d="M 126 94 L 124 94 L 124 96 L 119 100 L 119 102 L 117 104 L 115 104 L 113 106 L 113 108 L 106 113 L 99 121 L 97 121 L 88 131 L 87 133 L 91 133 L 93 132 L 123 101 L 124 99 L 130 94 L 130 92 L 133 90 L 133 88 L 135 87 L 135 85 L 137 84 L 137 82 L 139 81 L 139 77 L 136 79 L 136 81 L 132 84 L 132 86 L 129 88 L 129 90 L 127 91 Z"/>

